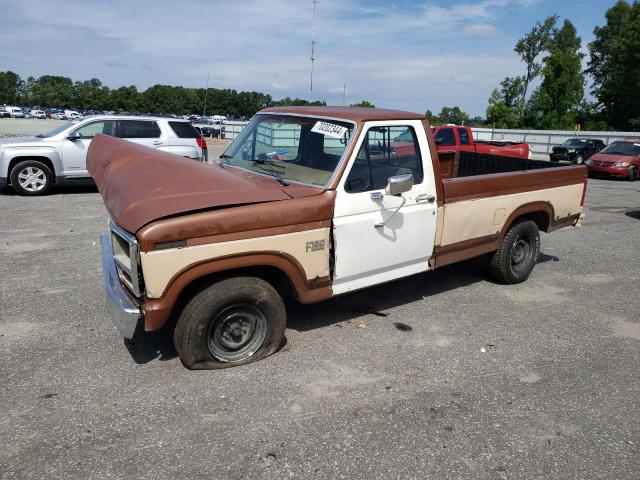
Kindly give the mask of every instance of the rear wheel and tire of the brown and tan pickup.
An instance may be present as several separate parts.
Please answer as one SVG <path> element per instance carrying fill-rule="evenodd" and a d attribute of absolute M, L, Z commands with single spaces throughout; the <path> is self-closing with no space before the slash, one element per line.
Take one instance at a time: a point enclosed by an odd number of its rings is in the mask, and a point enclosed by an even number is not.
<path fill-rule="evenodd" d="M 535 222 L 513 224 L 491 258 L 491 275 L 506 284 L 522 283 L 533 271 L 540 253 L 540 232 Z"/>

